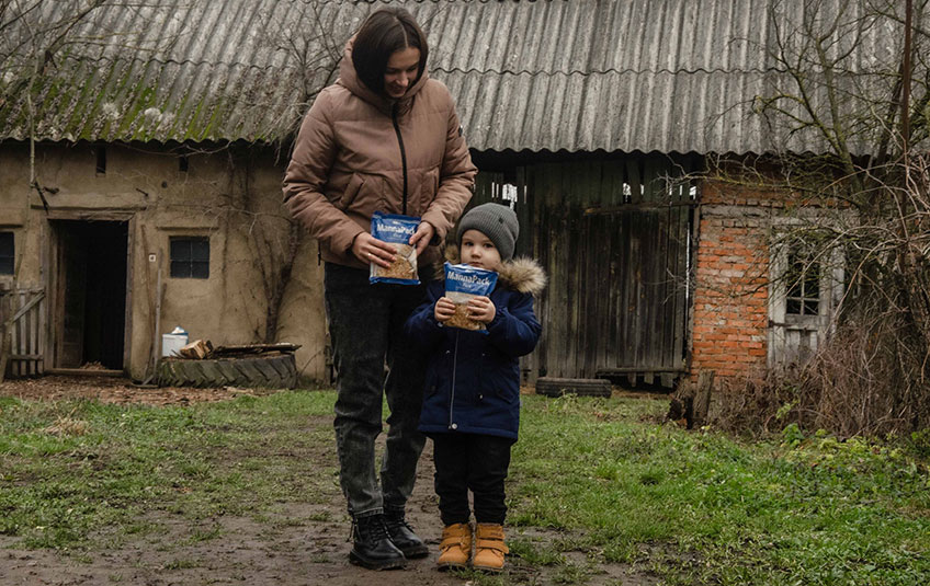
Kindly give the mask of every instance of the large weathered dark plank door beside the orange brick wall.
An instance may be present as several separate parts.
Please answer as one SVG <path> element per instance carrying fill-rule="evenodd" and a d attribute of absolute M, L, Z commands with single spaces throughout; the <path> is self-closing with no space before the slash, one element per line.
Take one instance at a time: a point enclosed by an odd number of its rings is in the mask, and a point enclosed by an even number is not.
<path fill-rule="evenodd" d="M 546 376 L 684 371 L 690 225 L 690 206 L 541 215 Z"/>

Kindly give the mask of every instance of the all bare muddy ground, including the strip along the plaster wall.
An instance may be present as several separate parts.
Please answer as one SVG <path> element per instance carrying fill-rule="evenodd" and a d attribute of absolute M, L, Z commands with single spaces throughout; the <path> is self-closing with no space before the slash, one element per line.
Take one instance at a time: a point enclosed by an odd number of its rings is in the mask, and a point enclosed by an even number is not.
<path fill-rule="evenodd" d="M 94 399 L 106 403 L 147 403 L 154 405 L 223 401 L 241 394 L 268 394 L 273 391 L 242 389 L 137 388 L 118 378 L 45 377 L 0 383 L 0 394 L 27 400 Z M 330 426 L 331 417 L 313 425 Z M 332 446 L 320 458 L 333 458 Z M 0 536 L 0 585 L 114 585 L 145 586 L 248 584 L 248 585 L 327 585 L 378 586 L 463 585 L 474 581 L 434 568 L 441 527 L 436 499 L 432 493 L 433 463 L 430 447 L 420 463 L 415 493 L 408 504 L 408 520 L 431 545 L 431 553 L 408 563 L 406 570 L 371 572 L 349 564 L 349 527 L 341 495 L 327 504 L 290 503 L 281 513 L 286 519 L 313 520 L 307 524 L 261 521 L 247 517 L 223 516 L 211 519 L 209 529 L 218 539 L 188 543 L 190 521 L 168 512 L 152 512 L 152 524 L 162 527 L 158 536 L 136 541 L 121 539 L 115 547 L 78 555 L 49 550 L 13 548 L 14 539 Z M 552 541 L 565 536 L 532 529 L 510 529 L 523 539 Z M 105 538 L 105 528 L 101 528 Z M 105 539 L 103 540 L 105 542 Z M 587 564 L 581 552 L 566 556 L 580 566 Z M 510 562 L 501 584 L 564 584 L 558 567 L 534 567 L 520 560 Z M 599 564 L 586 576 L 585 584 L 649 585 L 658 578 L 644 568 L 625 564 Z"/>

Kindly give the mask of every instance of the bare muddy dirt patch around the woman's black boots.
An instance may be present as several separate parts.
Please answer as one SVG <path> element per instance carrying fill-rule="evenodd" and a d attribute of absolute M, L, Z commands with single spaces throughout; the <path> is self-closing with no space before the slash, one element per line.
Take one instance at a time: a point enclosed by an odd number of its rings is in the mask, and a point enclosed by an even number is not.
<path fill-rule="evenodd" d="M 431 482 L 424 476 L 429 474 L 431 470 L 420 472 L 408 516 L 433 551 L 429 558 L 411 561 L 402 571 L 371 572 L 351 565 L 348 561 L 349 528 L 343 521 L 281 527 L 247 517 L 224 516 L 204 522 L 211 530 L 218 529 L 222 537 L 196 544 L 173 545 L 189 540 L 190 522 L 172 521 L 170 514 L 158 513 L 151 520 L 167 527 L 167 533 L 118 549 L 92 552 L 86 559 L 45 550 L 4 549 L 4 538 L 0 537 L 0 584 L 462 585 L 463 579 L 434 568 L 439 529 L 431 495 L 427 494 Z M 329 509 L 340 506 L 341 503 L 326 506 L 291 504 L 286 516 L 292 519 L 321 514 L 338 517 L 336 510 Z"/>

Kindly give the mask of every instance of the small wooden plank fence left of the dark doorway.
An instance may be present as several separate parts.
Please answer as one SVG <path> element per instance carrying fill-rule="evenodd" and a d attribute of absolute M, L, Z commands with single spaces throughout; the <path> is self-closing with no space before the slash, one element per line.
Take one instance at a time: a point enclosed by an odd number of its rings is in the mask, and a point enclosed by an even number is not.
<path fill-rule="evenodd" d="M 4 328 L 9 337 L 10 375 L 32 377 L 45 371 L 46 300 L 42 288 L 7 291 L 3 308 Z M 9 318 L 5 318 L 9 315 Z"/>

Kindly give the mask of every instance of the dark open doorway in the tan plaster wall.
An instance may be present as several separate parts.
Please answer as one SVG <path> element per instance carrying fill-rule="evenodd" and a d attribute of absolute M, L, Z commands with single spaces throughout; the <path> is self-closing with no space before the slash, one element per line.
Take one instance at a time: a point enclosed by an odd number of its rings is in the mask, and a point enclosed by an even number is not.
<path fill-rule="evenodd" d="M 57 237 L 56 366 L 123 369 L 128 222 L 53 222 Z"/>

